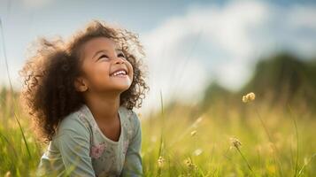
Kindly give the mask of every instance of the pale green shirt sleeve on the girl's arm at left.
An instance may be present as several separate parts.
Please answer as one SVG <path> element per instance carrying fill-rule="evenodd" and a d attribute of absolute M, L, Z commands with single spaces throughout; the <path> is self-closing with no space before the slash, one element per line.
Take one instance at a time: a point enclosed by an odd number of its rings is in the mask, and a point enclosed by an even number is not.
<path fill-rule="evenodd" d="M 67 176 L 96 176 L 89 156 L 89 130 L 77 119 L 67 120 L 59 129 L 58 149 Z"/>

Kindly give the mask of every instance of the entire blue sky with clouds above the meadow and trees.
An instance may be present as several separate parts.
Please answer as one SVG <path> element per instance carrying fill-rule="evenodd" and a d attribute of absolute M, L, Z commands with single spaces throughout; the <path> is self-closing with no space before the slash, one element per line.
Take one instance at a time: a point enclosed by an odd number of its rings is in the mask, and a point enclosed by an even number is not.
<path fill-rule="evenodd" d="M 209 81 L 239 89 L 258 58 L 275 51 L 316 56 L 315 17 L 312 1 L 0 0 L 0 83 L 8 83 L 4 40 L 19 89 L 18 71 L 36 37 L 67 38 L 90 19 L 101 19 L 140 35 L 151 88 L 144 107 L 157 107 L 160 90 L 166 101 L 175 96 L 194 104 Z"/>

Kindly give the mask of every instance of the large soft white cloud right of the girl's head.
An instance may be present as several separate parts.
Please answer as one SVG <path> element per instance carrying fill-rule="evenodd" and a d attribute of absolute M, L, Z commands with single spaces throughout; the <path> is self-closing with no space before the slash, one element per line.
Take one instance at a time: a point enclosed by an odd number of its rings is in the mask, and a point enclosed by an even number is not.
<path fill-rule="evenodd" d="M 159 89 L 165 100 L 174 94 L 202 96 L 208 78 L 239 89 L 250 78 L 256 59 L 275 50 L 314 55 L 315 10 L 311 5 L 232 1 L 193 6 L 186 15 L 167 19 L 142 36 L 151 78 L 147 104 L 159 103 Z M 311 34 L 304 37 L 298 30 Z"/>

